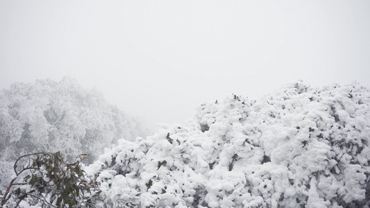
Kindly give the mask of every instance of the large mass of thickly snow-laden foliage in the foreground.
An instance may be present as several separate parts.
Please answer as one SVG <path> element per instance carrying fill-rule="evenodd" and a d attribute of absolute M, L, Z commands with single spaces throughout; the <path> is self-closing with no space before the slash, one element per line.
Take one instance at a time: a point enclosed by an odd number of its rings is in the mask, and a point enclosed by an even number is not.
<path fill-rule="evenodd" d="M 363 207 L 370 92 L 301 82 L 203 103 L 185 126 L 118 141 L 85 167 L 96 207 Z"/>

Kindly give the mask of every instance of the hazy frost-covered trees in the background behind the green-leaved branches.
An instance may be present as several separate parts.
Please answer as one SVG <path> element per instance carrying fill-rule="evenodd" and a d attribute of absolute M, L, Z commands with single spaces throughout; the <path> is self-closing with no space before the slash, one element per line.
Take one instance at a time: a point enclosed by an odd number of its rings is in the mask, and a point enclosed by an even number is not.
<path fill-rule="evenodd" d="M 140 123 L 72 78 L 15 83 L 0 90 L 0 187 L 26 153 L 60 151 L 68 161 L 87 153 L 91 163 L 117 139 L 139 136 Z"/>

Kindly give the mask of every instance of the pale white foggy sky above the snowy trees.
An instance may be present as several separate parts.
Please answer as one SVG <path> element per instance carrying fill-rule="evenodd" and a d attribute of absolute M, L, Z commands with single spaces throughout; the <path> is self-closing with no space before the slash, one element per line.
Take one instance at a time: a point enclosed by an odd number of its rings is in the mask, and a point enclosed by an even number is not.
<path fill-rule="evenodd" d="M 298 79 L 370 86 L 370 1 L 0 1 L 0 88 L 71 76 L 156 123 Z"/>

